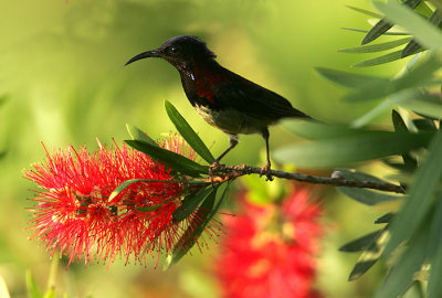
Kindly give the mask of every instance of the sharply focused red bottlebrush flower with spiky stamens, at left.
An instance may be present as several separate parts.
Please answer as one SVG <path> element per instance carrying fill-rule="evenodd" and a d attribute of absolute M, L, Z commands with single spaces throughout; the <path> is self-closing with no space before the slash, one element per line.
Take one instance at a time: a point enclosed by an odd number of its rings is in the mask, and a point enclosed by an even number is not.
<path fill-rule="evenodd" d="M 173 147 L 165 148 L 194 158 L 180 137 L 170 137 L 168 142 Z M 185 185 L 140 151 L 98 145 L 92 153 L 85 147 L 52 155 L 45 149 L 46 161 L 24 171 L 42 189 L 31 209 L 33 237 L 45 244 L 51 256 L 56 249 L 69 255 L 69 265 L 83 256 L 85 264 L 118 255 L 125 255 L 126 262 L 133 255 L 145 263 L 146 255 L 157 254 L 158 260 L 160 251 L 170 252 L 189 225 L 200 224 L 197 212 L 179 223 L 172 221 Z M 114 189 L 130 179 L 151 181 L 133 183 L 109 202 Z"/>

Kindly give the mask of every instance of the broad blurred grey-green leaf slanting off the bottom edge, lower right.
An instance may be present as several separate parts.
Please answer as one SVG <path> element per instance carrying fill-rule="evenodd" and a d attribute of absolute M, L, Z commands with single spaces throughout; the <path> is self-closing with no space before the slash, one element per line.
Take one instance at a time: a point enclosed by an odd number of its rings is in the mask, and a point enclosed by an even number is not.
<path fill-rule="evenodd" d="M 414 273 L 420 270 L 427 257 L 428 236 L 428 228 L 424 226 L 420 228 L 419 233 L 415 233 L 406 252 L 390 269 L 375 298 L 400 297 L 408 290 L 413 283 Z"/>

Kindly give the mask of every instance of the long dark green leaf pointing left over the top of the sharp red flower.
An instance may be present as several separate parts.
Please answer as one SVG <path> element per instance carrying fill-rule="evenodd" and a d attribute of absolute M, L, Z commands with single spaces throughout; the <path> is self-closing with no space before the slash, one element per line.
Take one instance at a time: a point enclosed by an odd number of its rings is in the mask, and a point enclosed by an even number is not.
<path fill-rule="evenodd" d="M 149 142 L 140 140 L 125 140 L 125 142 L 130 147 L 162 161 L 176 172 L 180 172 L 190 177 L 200 177 L 200 174 L 208 173 L 209 171 L 208 167 L 201 166 L 193 160 L 177 155 L 172 151 L 159 148 L 158 146 L 154 146 Z"/>

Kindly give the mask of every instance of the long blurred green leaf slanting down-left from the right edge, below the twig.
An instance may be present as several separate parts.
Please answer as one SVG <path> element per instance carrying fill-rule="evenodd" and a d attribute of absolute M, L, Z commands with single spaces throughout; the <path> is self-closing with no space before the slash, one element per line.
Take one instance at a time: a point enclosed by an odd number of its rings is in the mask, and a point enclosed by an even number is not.
<path fill-rule="evenodd" d="M 385 254 L 389 255 L 400 243 L 414 234 L 425 217 L 442 179 L 442 131 L 434 134 L 429 153 L 418 168 L 408 199 L 391 223 L 391 238 Z"/>

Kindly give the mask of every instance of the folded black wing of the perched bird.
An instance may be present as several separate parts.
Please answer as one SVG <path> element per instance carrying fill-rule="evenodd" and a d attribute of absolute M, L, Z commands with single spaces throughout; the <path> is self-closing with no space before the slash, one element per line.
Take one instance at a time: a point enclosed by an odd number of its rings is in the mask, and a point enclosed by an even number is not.
<path fill-rule="evenodd" d="M 257 118 L 271 120 L 283 117 L 309 118 L 281 95 L 241 76 L 238 76 L 235 82 L 230 81 L 218 86 L 214 102 L 220 108 L 232 107 Z"/>

